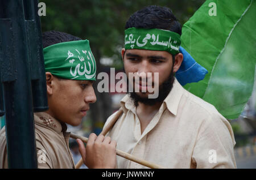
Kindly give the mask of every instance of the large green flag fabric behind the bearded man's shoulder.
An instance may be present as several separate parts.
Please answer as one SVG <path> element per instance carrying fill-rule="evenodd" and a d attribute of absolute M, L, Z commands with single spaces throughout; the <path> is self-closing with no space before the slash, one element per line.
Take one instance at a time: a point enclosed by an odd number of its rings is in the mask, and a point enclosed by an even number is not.
<path fill-rule="evenodd" d="M 209 72 L 184 88 L 227 119 L 239 117 L 253 91 L 255 17 L 254 0 L 209 0 L 182 28 L 181 46 Z"/>

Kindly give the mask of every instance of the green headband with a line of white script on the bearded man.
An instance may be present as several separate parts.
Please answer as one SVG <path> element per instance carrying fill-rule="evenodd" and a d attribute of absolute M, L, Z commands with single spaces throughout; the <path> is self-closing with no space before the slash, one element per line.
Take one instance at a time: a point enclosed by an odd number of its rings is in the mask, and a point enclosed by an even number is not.
<path fill-rule="evenodd" d="M 128 28 L 125 30 L 125 49 L 162 50 L 179 53 L 180 35 L 164 29 Z"/>

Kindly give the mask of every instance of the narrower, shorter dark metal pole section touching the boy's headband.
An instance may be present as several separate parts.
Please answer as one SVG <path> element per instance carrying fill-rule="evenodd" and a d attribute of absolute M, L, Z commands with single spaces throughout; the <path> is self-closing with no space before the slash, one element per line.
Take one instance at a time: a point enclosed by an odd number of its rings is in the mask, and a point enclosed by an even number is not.
<path fill-rule="evenodd" d="M 42 31 L 40 17 L 38 16 L 38 1 L 23 0 L 27 40 L 29 66 L 31 67 L 31 83 L 34 112 L 42 112 L 48 109 L 46 91 L 46 71 L 44 68 Z"/>

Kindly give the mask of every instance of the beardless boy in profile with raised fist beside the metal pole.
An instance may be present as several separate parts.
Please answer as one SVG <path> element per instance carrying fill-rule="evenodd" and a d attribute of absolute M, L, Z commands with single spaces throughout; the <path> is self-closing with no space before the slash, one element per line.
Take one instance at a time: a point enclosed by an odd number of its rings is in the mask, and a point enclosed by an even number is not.
<path fill-rule="evenodd" d="M 67 33 L 43 33 L 43 47 L 49 109 L 34 113 L 38 168 L 75 168 L 65 123 L 80 125 L 89 104 L 96 101 L 92 86 L 96 61 L 88 40 Z M 115 145 L 109 137 L 91 134 L 86 145 L 86 166 L 114 168 Z M 0 168 L 8 168 L 5 128 L 0 131 Z"/>

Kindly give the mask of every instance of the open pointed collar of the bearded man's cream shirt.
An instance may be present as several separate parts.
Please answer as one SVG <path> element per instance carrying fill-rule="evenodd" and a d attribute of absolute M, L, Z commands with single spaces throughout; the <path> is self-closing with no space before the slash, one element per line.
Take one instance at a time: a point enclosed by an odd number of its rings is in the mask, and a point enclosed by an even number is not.
<path fill-rule="evenodd" d="M 164 102 L 163 102 L 167 107 L 167 109 L 174 115 L 177 115 L 177 109 L 178 109 L 182 94 L 183 94 L 183 87 L 175 78 L 174 84 L 172 86 L 172 90 L 168 94 L 168 96 L 164 99 Z M 125 97 L 123 97 L 120 104 L 124 113 L 127 113 L 128 110 L 131 110 L 133 113 L 136 112 L 135 111 L 136 107 L 134 105 L 134 102 L 133 100 L 131 100 L 129 95 L 126 95 Z M 164 107 L 163 104 L 162 106 Z"/>

